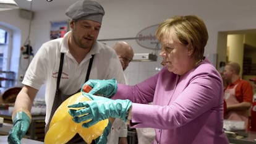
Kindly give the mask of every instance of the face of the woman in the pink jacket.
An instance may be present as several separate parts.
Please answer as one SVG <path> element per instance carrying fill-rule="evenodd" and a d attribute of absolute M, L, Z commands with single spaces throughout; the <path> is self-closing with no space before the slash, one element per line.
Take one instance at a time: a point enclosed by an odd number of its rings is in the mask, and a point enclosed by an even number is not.
<path fill-rule="evenodd" d="M 189 46 L 182 44 L 172 31 L 168 35 L 163 36 L 161 44 L 160 56 L 163 57 L 169 72 L 183 75 L 191 69 Z"/>

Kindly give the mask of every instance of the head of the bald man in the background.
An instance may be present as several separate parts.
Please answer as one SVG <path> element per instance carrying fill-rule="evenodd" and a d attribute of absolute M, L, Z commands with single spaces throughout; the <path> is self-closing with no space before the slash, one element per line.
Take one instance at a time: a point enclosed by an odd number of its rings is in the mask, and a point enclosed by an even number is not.
<path fill-rule="evenodd" d="M 114 44 L 113 49 L 116 51 L 117 56 L 122 64 L 122 69 L 126 70 L 129 66 L 129 62 L 134 57 L 134 50 L 125 41 L 118 41 Z"/>

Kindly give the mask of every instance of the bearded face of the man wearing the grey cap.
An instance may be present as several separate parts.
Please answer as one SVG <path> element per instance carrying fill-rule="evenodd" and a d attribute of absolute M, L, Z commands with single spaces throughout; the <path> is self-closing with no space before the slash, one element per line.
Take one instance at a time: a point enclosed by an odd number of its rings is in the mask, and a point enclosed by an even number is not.
<path fill-rule="evenodd" d="M 101 24 L 93 20 L 77 20 L 70 22 L 72 38 L 83 49 L 92 48 L 98 38 Z"/>

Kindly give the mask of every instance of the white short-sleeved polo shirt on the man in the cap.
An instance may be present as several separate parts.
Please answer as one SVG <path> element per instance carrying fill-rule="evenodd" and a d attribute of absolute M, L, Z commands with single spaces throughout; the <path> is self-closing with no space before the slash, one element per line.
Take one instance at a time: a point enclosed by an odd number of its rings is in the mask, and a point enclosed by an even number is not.
<path fill-rule="evenodd" d="M 59 89 L 66 95 L 74 94 L 85 83 L 85 76 L 92 54 L 95 54 L 95 57 L 90 72 L 90 79 L 116 78 L 117 82 L 125 83 L 119 58 L 116 52 L 106 44 L 96 41 L 91 51 L 78 64 L 69 52 L 68 40 L 70 33 L 66 33 L 64 38 L 44 43 L 35 54 L 35 57 L 33 57 L 22 81 L 24 85 L 37 90 L 46 83 L 46 124 L 48 124 L 53 106 L 61 53 L 65 54 Z"/>

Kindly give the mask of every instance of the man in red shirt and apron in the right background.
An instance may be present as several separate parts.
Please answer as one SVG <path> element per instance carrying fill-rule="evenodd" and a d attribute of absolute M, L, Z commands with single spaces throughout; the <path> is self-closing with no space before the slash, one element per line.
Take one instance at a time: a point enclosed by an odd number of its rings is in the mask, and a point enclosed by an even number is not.
<path fill-rule="evenodd" d="M 248 127 L 249 108 L 252 105 L 252 85 L 239 76 L 240 66 L 236 62 L 229 62 L 224 67 L 224 78 L 228 86 L 224 90 L 226 101 L 226 115 L 224 119 L 244 121 L 244 128 Z"/>

